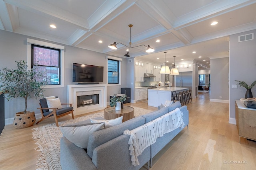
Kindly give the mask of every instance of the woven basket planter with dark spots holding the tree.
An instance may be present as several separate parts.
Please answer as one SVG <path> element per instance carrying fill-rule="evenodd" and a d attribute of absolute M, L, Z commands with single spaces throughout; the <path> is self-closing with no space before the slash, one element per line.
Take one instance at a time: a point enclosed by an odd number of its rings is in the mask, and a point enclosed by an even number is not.
<path fill-rule="evenodd" d="M 30 127 L 36 122 L 35 112 L 34 111 L 23 111 L 15 114 L 13 125 L 17 129 Z"/>

